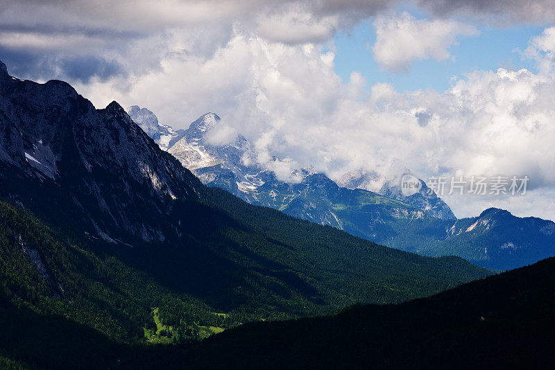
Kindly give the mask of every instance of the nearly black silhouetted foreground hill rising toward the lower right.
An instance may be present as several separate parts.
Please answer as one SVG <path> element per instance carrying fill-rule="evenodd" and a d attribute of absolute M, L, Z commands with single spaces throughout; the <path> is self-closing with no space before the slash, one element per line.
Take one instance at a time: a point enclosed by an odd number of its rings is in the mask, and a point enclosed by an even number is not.
<path fill-rule="evenodd" d="M 503 369 L 555 364 L 555 258 L 425 299 L 257 322 L 190 349 L 195 367 Z"/>

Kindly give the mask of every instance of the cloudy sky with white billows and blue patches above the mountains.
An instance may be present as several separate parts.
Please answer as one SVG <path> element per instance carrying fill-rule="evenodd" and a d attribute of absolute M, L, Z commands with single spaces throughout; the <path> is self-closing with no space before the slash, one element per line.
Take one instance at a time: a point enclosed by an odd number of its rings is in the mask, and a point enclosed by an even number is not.
<path fill-rule="evenodd" d="M 270 167 L 528 176 L 445 198 L 555 219 L 555 0 L 0 0 L 0 60 L 176 128 L 216 112 Z"/>

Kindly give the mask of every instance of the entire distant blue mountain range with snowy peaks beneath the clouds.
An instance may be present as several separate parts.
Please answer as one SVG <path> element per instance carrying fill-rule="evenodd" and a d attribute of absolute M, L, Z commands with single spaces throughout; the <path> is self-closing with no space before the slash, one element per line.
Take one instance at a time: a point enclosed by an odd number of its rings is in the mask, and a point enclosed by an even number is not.
<path fill-rule="evenodd" d="M 327 224 L 349 234 L 427 256 L 454 255 L 495 270 L 529 265 L 555 255 L 555 223 L 517 218 L 488 209 L 477 218 L 457 220 L 451 209 L 421 179 L 418 192 L 403 195 L 402 175 L 395 166 L 386 175 L 359 170 L 338 182 L 313 168 L 300 168 L 289 181 L 253 161 L 245 164 L 253 145 L 242 135 L 233 143 L 214 145 L 214 113 L 200 116 L 187 130 L 160 125 L 146 108 L 127 109 L 160 148 L 208 186 L 223 188 L 249 202 L 278 209 L 297 218 Z M 376 189 L 377 192 L 368 189 Z"/>

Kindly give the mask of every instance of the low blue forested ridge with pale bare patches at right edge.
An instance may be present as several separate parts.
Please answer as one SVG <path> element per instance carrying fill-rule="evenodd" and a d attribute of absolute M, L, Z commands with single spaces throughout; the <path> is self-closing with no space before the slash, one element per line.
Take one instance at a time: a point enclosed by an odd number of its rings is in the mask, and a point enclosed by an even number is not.
<path fill-rule="evenodd" d="M 555 222 L 486 209 L 461 220 L 393 220 L 378 243 L 427 256 L 456 255 L 476 265 L 511 270 L 555 255 Z M 415 236 L 418 236 L 416 238 Z"/>

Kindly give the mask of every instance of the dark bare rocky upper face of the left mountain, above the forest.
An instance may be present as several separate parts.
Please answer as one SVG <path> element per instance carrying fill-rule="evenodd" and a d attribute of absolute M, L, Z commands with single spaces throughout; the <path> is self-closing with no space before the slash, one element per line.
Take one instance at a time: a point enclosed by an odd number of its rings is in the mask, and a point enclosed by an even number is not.
<path fill-rule="evenodd" d="M 107 240 L 164 240 L 171 200 L 200 186 L 116 102 L 96 109 L 66 82 L 19 80 L 3 64 L 0 125 L 1 193 L 56 218 L 49 198 Z"/>

